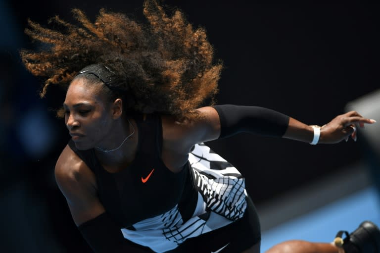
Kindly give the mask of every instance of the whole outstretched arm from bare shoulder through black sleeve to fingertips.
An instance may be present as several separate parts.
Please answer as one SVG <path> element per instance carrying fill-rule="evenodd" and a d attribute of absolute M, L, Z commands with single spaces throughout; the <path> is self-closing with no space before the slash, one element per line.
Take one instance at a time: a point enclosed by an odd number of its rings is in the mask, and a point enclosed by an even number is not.
<path fill-rule="evenodd" d="M 188 153 L 195 143 L 212 141 L 241 132 L 265 136 L 283 137 L 311 143 L 312 126 L 275 110 L 259 106 L 216 105 L 198 109 L 201 119 L 177 122 L 163 118 L 163 137 L 169 149 Z M 318 143 L 338 143 L 348 137 L 356 140 L 356 128 L 376 121 L 362 117 L 356 111 L 336 116 L 320 129 Z M 181 152 L 182 151 L 182 152 Z"/>

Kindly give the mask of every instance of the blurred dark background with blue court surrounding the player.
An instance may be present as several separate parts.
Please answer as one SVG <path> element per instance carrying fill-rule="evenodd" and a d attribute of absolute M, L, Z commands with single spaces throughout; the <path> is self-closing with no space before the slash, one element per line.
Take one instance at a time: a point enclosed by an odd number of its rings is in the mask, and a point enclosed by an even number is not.
<path fill-rule="evenodd" d="M 356 143 L 314 147 L 245 134 L 208 143 L 246 177 L 262 221 L 262 252 L 288 239 L 330 242 L 337 230 L 352 231 L 365 219 L 380 224 L 380 141 L 372 141 L 380 132 L 380 97 L 373 95 L 380 88 L 379 4 L 163 2 L 205 27 L 216 59 L 224 61 L 218 103 L 265 106 L 306 124 L 323 125 L 356 108 L 378 120 L 358 133 Z M 0 0 L 0 245 L 5 252 L 90 252 L 53 174 L 69 140 L 54 113 L 64 91 L 52 87 L 40 99 L 44 80 L 31 76 L 18 55 L 21 48 L 41 47 L 23 32 L 27 18 L 49 27 L 54 15 L 73 21 L 73 7 L 92 20 L 100 7 L 143 20 L 142 0 Z"/>

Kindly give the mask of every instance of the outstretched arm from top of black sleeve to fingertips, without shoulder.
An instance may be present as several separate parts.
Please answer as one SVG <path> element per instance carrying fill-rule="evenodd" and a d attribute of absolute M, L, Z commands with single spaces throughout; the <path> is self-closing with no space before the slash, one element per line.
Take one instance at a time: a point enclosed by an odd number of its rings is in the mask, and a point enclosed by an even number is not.
<path fill-rule="evenodd" d="M 214 108 L 220 117 L 221 138 L 239 132 L 250 132 L 311 143 L 316 132 L 312 126 L 264 107 L 227 104 Z M 374 122 L 363 118 L 356 111 L 338 115 L 321 127 L 318 143 L 337 143 L 350 135 L 356 140 L 356 127 L 364 127 L 364 123 Z"/>

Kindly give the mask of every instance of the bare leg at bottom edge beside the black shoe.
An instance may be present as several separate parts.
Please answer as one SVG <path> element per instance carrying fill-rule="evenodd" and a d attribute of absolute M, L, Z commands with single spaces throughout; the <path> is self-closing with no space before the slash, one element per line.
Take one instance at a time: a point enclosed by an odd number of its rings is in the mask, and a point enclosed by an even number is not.
<path fill-rule="evenodd" d="M 329 243 L 291 240 L 273 246 L 266 253 L 344 253 L 344 250 Z"/>

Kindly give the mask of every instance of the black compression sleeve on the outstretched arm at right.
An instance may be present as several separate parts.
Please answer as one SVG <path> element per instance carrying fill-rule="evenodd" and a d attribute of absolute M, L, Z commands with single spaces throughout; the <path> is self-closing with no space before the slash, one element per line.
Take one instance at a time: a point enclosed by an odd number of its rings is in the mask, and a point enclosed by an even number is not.
<path fill-rule="evenodd" d="M 223 104 L 214 106 L 219 114 L 219 138 L 241 132 L 282 137 L 289 124 L 289 116 L 264 107 Z"/>

